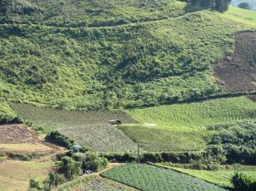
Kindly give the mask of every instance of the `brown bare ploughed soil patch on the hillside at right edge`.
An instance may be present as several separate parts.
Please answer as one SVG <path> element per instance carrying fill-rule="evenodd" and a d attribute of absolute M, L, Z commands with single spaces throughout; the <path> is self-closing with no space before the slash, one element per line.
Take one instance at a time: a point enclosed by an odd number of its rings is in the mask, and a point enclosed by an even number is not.
<path fill-rule="evenodd" d="M 256 91 L 256 32 L 238 33 L 233 55 L 218 61 L 213 71 L 225 91 Z"/>

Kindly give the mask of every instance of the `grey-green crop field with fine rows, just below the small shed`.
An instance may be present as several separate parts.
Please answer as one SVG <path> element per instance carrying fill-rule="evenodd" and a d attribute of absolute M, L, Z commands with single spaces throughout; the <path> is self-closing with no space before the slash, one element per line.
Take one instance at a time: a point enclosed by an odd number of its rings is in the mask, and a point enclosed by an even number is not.
<path fill-rule="evenodd" d="M 78 144 L 95 151 L 133 151 L 136 144 L 113 125 L 87 125 L 59 130 Z"/>

